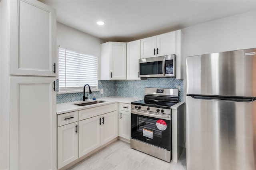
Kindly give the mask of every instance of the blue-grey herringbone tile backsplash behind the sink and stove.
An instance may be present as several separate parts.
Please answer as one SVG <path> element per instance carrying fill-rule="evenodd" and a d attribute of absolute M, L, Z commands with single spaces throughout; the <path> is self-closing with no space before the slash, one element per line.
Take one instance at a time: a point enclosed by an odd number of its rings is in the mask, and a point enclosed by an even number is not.
<path fill-rule="evenodd" d="M 145 87 L 176 89 L 176 85 L 180 85 L 179 100 L 183 101 L 183 80 L 176 80 L 175 78 L 150 78 L 147 80 L 125 81 L 99 80 L 98 89 L 103 89 L 103 94 L 100 94 L 100 91 L 94 91 L 92 94 L 88 93 L 88 99 L 92 99 L 93 94 L 95 94 L 96 98 L 109 96 L 144 98 Z M 82 101 L 82 97 L 83 93 L 57 94 L 57 103 Z"/>

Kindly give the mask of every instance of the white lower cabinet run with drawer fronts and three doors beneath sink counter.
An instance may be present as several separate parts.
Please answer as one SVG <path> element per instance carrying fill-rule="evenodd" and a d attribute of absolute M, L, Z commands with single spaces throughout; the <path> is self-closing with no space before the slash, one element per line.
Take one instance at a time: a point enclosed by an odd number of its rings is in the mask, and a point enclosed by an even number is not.
<path fill-rule="evenodd" d="M 117 104 L 58 115 L 57 131 L 60 169 L 118 137 Z"/>

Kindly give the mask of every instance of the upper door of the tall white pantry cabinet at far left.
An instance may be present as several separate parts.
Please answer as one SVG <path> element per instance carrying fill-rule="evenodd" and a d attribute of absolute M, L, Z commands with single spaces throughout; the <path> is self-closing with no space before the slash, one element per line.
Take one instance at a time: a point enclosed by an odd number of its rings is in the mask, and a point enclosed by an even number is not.
<path fill-rule="evenodd" d="M 56 76 L 56 10 L 39 1 L 10 1 L 10 74 Z"/>

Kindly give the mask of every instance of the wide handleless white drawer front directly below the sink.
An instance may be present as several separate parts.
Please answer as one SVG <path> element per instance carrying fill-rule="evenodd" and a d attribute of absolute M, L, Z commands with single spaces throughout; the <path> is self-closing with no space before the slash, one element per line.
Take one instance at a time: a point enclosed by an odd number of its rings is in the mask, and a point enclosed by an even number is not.
<path fill-rule="evenodd" d="M 102 114 L 109 113 L 116 110 L 117 110 L 116 103 L 80 110 L 78 111 L 78 121 L 82 121 L 84 119 L 88 119 L 91 117 L 95 117 L 95 116 L 102 115 Z"/>

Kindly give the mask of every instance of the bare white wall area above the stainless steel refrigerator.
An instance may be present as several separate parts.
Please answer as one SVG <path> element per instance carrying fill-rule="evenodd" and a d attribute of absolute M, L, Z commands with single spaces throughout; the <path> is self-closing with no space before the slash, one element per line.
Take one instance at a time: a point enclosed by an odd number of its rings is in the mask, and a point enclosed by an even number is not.
<path fill-rule="evenodd" d="M 184 56 L 256 47 L 256 10 L 182 29 Z"/>

